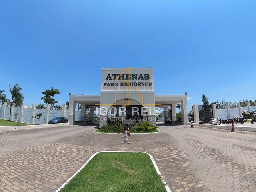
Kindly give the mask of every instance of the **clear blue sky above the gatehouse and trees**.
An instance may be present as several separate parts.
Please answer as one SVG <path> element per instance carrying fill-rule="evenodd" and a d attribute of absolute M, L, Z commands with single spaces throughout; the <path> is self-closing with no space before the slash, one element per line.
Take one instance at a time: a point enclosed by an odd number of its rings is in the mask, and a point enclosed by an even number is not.
<path fill-rule="evenodd" d="M 101 68 L 153 67 L 156 94 L 256 99 L 254 0 L 2 1 L 0 90 L 100 94 Z"/>

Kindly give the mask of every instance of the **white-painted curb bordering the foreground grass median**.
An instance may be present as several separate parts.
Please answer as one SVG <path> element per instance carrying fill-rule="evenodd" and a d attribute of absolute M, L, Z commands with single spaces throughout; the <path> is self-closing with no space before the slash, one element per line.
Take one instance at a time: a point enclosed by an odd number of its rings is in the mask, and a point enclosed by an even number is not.
<path fill-rule="evenodd" d="M 156 162 L 155 162 L 153 156 L 152 156 L 151 154 L 147 153 L 147 152 L 142 152 L 142 151 L 99 151 L 99 152 L 96 152 L 96 153 L 94 153 L 94 154 L 82 165 L 82 167 L 81 167 L 74 175 L 72 175 L 72 176 L 71 176 L 62 186 L 60 186 L 60 188 L 58 188 L 55 192 L 59 192 L 62 188 L 64 188 L 64 186 L 65 186 L 66 184 L 68 184 L 68 182 L 70 182 L 70 180 L 72 180 L 72 178 L 73 178 L 74 176 L 76 176 L 76 174 L 78 174 L 78 173 L 82 170 L 82 168 L 84 168 L 84 167 L 86 166 L 86 164 L 88 164 L 88 162 L 89 162 L 90 160 L 92 160 L 92 158 L 94 158 L 94 156 L 95 156 L 96 154 L 102 153 L 102 152 L 111 152 L 111 153 L 146 153 L 146 154 L 148 154 L 148 156 L 150 157 L 150 160 L 152 161 L 152 163 L 153 163 L 153 165 L 154 165 L 154 168 L 156 169 L 156 173 L 160 176 L 160 178 L 161 178 L 161 180 L 162 180 L 162 182 L 163 182 L 163 184 L 164 184 L 164 187 L 165 187 L 166 191 L 167 191 L 167 192 L 171 192 L 171 190 L 170 190 L 168 184 L 164 181 L 164 177 L 162 176 L 160 170 L 158 169 L 158 167 L 157 167 L 157 165 L 156 165 Z"/>

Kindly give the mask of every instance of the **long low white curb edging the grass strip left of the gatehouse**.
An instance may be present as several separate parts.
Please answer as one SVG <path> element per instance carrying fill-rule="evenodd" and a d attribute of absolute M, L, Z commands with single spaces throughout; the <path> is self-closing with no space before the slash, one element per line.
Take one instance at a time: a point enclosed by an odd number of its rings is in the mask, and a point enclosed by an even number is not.
<path fill-rule="evenodd" d="M 42 125 L 20 125 L 20 126 L 0 126 L 0 131 L 12 131 L 12 130 L 26 130 L 35 128 L 47 128 L 47 127 L 58 127 L 69 125 L 68 123 L 58 123 L 58 124 L 42 124 Z"/>

